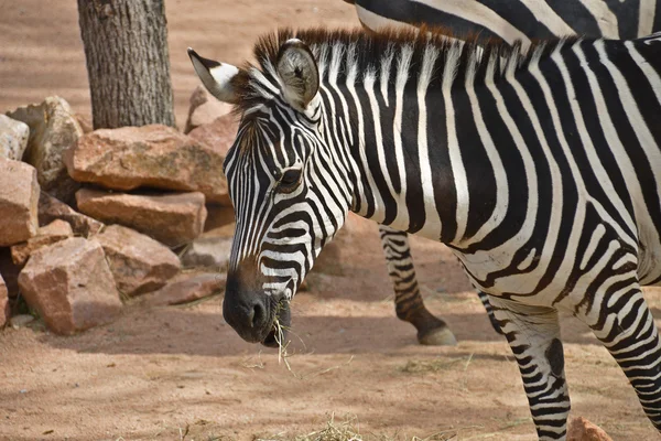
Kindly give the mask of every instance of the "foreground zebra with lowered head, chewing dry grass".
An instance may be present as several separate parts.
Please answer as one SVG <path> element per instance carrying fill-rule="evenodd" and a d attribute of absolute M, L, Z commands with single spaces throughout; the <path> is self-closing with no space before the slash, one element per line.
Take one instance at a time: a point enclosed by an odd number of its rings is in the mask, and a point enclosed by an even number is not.
<path fill-rule="evenodd" d="M 189 50 L 241 115 L 223 314 L 277 346 L 348 211 L 446 244 L 488 293 L 542 440 L 570 412 L 559 310 L 585 322 L 661 429 L 661 34 L 521 44 L 282 30 L 257 65 Z"/>

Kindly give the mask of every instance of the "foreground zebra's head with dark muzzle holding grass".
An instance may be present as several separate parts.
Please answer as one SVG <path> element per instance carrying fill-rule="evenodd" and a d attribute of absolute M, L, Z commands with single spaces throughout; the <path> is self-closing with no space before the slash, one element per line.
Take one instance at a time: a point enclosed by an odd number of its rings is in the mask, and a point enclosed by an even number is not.
<path fill-rule="evenodd" d="M 329 170 L 311 49 L 289 39 L 271 52 L 256 50 L 260 68 L 237 68 L 188 50 L 206 88 L 241 116 L 224 165 L 236 230 L 223 314 L 267 346 L 289 326 L 289 302 L 349 206 L 348 184 Z"/>

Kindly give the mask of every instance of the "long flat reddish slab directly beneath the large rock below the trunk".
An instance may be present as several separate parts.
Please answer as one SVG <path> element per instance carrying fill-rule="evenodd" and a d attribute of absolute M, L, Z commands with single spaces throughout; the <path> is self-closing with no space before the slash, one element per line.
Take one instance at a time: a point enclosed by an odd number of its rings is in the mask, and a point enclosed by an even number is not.
<path fill-rule="evenodd" d="M 206 219 L 204 194 L 139 195 L 82 189 L 78 209 L 107 224 L 120 224 L 174 247 L 199 236 Z"/>

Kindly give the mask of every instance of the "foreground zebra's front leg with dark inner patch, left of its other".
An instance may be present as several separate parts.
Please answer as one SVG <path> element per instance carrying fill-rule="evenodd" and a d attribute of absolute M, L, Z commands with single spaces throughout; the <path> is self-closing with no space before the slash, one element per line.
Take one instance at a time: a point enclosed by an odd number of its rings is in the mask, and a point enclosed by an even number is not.
<path fill-rule="evenodd" d="M 540 440 L 564 440 L 570 396 L 557 311 L 489 295 L 494 314 L 519 364 Z"/>

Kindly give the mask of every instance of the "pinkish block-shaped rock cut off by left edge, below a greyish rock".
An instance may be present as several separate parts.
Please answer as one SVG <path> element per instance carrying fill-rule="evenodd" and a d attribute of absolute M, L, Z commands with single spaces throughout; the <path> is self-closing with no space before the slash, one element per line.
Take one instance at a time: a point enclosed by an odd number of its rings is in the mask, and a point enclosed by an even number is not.
<path fill-rule="evenodd" d="M 0 247 L 36 234 L 39 184 L 33 166 L 0 158 Z"/>

